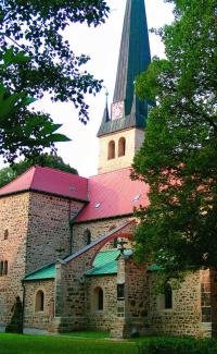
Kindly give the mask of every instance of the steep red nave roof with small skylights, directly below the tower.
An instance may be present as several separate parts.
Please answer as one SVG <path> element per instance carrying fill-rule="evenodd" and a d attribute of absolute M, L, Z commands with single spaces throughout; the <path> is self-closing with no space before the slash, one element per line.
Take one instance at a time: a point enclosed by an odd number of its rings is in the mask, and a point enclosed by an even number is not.
<path fill-rule="evenodd" d="M 131 215 L 135 207 L 149 205 L 149 186 L 130 180 L 130 168 L 89 179 L 89 199 L 75 222 Z"/>

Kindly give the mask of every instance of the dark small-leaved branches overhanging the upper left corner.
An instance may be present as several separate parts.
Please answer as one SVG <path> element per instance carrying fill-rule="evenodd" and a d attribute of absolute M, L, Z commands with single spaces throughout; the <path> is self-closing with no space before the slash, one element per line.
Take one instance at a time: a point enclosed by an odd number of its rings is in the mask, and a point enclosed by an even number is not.
<path fill-rule="evenodd" d="M 104 0 L 44 0 L 42 5 L 39 0 L 0 1 L 0 54 L 13 45 L 17 56 L 22 49 L 30 57 L 30 61 L 13 62 L 2 75 L 3 85 L 36 98 L 47 91 L 54 101 L 72 101 L 86 123 L 85 94 L 99 91 L 101 81 L 82 70 L 89 57 L 72 51 L 64 29 L 77 22 L 97 26 L 107 13 Z"/>

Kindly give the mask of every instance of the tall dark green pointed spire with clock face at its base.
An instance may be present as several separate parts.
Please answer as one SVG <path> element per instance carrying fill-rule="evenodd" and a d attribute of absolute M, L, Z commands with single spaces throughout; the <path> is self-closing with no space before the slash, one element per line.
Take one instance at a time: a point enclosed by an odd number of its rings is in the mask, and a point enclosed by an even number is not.
<path fill-rule="evenodd" d="M 144 129 L 148 103 L 135 95 L 135 78 L 151 61 L 144 0 L 127 0 L 111 119 L 98 136 L 129 127 Z"/>

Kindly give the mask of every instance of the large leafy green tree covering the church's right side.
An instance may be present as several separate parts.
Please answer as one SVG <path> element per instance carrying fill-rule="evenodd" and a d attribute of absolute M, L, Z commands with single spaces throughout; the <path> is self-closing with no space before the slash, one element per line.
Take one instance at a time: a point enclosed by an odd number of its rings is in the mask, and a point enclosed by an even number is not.
<path fill-rule="evenodd" d="M 155 58 L 136 84 L 154 99 L 132 178 L 150 185 L 138 210 L 138 258 L 173 276 L 217 264 L 216 0 L 176 0 Z"/>

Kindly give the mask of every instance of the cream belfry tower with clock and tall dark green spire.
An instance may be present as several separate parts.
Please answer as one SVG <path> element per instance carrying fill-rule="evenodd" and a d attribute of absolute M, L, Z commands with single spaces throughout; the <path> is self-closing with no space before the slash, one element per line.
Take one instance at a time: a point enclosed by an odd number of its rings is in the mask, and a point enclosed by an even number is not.
<path fill-rule="evenodd" d="M 148 102 L 135 95 L 135 78 L 151 61 L 144 0 L 127 0 L 116 84 L 105 106 L 98 137 L 99 174 L 130 167 L 144 137 Z"/>

